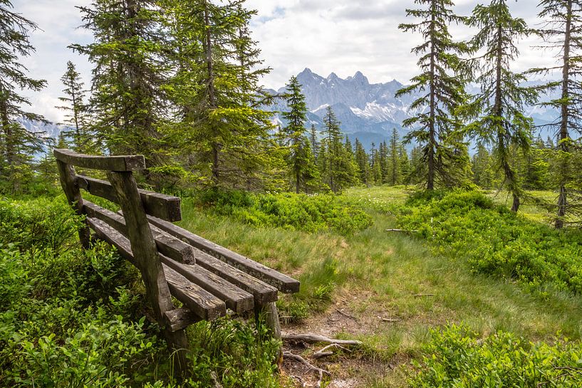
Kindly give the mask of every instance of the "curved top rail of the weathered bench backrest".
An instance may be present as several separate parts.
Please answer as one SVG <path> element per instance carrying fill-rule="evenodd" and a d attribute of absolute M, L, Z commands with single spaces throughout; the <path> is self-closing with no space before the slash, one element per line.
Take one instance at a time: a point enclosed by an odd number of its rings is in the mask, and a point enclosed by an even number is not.
<path fill-rule="evenodd" d="M 145 169 L 143 155 L 124 156 L 95 156 L 78 154 L 71 150 L 56 149 L 53 151 L 57 160 L 73 166 L 86 169 L 100 169 L 105 171 L 135 171 Z"/>

